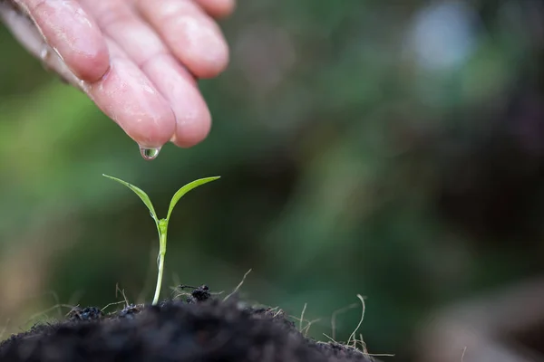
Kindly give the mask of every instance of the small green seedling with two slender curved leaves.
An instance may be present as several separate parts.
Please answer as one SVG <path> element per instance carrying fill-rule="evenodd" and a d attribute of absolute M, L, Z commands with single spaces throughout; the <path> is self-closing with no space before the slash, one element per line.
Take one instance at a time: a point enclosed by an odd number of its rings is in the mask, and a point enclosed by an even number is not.
<path fill-rule="evenodd" d="M 141 201 L 143 201 L 143 204 L 145 204 L 148 209 L 150 209 L 151 217 L 153 220 L 155 220 L 155 224 L 157 224 L 157 231 L 159 232 L 159 256 L 157 258 L 157 263 L 159 264 L 159 273 L 157 276 L 157 287 L 155 289 L 155 296 L 153 297 L 153 304 L 157 304 L 159 301 L 159 295 L 160 295 L 160 287 L 162 285 L 162 272 L 164 271 L 164 255 L 166 255 L 166 235 L 168 232 L 168 223 L 170 221 L 170 215 L 172 214 L 172 210 L 174 209 L 174 206 L 178 204 L 178 201 L 180 201 L 180 198 L 187 194 L 190 190 L 193 188 L 196 188 L 200 185 L 207 184 L 211 181 L 217 180 L 220 176 L 213 176 L 213 177 L 206 177 L 206 178 L 199 178 L 198 180 L 195 180 L 193 182 L 190 182 L 186 186 L 181 187 L 178 192 L 176 192 L 170 201 L 170 207 L 168 209 L 168 214 L 166 216 L 166 219 L 159 219 L 157 217 L 157 213 L 155 213 L 155 209 L 153 208 L 153 204 L 151 204 L 150 197 L 143 192 L 140 188 L 133 186 L 129 184 L 128 182 L 125 182 L 123 180 L 120 180 L 119 178 L 103 175 L 108 178 L 111 178 L 112 180 L 115 180 L 119 182 L 120 184 L 129 187 L 136 195 L 140 196 Z"/>

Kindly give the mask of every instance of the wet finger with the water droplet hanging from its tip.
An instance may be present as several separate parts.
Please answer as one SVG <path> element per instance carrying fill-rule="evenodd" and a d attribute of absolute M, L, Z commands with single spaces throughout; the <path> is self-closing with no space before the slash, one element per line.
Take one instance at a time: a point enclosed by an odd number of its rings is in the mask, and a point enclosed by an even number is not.
<path fill-rule="evenodd" d="M 85 89 L 96 105 L 140 146 L 158 148 L 174 134 L 170 105 L 119 47 L 108 41 L 110 71 Z"/>

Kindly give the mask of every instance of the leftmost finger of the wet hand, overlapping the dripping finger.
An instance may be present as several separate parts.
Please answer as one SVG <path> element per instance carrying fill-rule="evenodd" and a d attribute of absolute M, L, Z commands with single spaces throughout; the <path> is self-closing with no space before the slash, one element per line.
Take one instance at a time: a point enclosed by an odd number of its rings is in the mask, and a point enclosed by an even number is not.
<path fill-rule="evenodd" d="M 102 32 L 74 0 L 17 0 L 45 41 L 83 81 L 98 81 L 110 66 Z"/>

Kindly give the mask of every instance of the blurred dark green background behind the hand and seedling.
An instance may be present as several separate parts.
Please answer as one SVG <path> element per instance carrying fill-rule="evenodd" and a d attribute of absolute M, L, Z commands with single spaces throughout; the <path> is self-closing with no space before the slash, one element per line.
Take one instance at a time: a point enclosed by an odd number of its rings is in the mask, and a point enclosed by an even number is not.
<path fill-rule="evenodd" d="M 360 293 L 384 360 L 415 360 L 434 310 L 544 271 L 542 2 L 242 0 L 221 26 L 209 138 L 151 162 L 0 28 L 4 338 L 57 304 L 121 300 L 117 284 L 151 300 L 156 229 L 102 173 L 160 214 L 222 176 L 174 212 L 165 285 L 228 293 L 252 269 L 243 296 L 293 316 L 307 303 L 321 340 Z"/>

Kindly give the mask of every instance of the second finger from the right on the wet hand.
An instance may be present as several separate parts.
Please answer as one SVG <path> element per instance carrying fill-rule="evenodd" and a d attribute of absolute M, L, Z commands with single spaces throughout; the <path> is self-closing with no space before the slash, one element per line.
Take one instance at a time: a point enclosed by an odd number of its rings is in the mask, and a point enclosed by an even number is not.
<path fill-rule="evenodd" d="M 213 2 L 219 0 L 206 3 Z M 211 78 L 227 67 L 228 45 L 218 24 L 192 0 L 137 0 L 136 4 L 170 51 L 197 77 Z"/>

